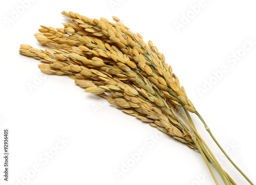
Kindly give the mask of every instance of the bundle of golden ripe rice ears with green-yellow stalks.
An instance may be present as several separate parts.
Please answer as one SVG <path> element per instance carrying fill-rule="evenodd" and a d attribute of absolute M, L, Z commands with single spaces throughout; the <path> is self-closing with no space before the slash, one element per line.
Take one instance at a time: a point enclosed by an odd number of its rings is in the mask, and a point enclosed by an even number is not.
<path fill-rule="evenodd" d="M 117 17 L 113 17 L 116 21 L 113 23 L 106 18 L 91 19 L 73 12 L 63 11 L 62 14 L 72 22 L 63 23 L 64 28 L 57 29 L 41 25 L 40 33 L 35 34 L 42 45 L 52 49 L 21 44 L 20 54 L 45 63 L 38 65 L 41 72 L 68 75 L 85 88 L 85 92 L 108 99 L 123 112 L 199 150 L 216 184 L 219 182 L 209 163 L 214 165 L 224 184 L 236 184 L 198 134 L 189 112 L 199 117 L 212 139 L 228 155 L 152 41 L 146 44 L 140 34 L 133 33 Z"/>

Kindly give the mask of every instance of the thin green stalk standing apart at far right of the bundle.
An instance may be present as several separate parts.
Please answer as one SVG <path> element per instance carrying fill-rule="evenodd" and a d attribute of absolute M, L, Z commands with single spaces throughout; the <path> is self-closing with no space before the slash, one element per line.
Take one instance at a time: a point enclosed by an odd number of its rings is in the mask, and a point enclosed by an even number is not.
<path fill-rule="evenodd" d="M 218 145 L 218 147 L 221 149 L 221 151 L 224 153 L 224 155 L 228 158 L 228 160 L 230 161 L 230 163 L 244 176 L 244 178 L 251 184 L 254 185 L 252 183 L 252 181 L 242 172 L 242 170 L 240 170 L 238 168 L 238 166 L 236 164 L 234 164 L 234 162 L 231 160 L 231 158 L 227 155 L 227 153 L 225 152 L 225 150 L 221 147 L 221 145 L 219 144 L 219 142 L 215 139 L 214 135 L 212 135 L 210 128 L 207 126 L 207 124 L 205 123 L 204 119 L 202 118 L 202 116 L 196 111 L 195 114 L 199 117 L 199 119 L 202 121 L 202 123 L 205 126 L 205 129 L 208 131 L 209 135 L 211 136 L 211 138 L 215 141 L 215 143 Z"/>

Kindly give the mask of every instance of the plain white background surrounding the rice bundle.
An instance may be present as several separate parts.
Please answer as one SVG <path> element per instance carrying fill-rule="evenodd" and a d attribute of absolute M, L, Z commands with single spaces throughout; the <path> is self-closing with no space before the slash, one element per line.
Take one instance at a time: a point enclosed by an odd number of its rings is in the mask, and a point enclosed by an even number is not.
<path fill-rule="evenodd" d="M 199 4 L 178 0 L 38 0 L 26 4 L 24 12 L 15 18 L 11 14 L 23 10 L 21 1 L 2 2 L 0 151 L 3 153 L 3 130 L 8 128 L 10 179 L 3 180 L 1 157 L 1 184 L 19 184 L 17 179 L 26 179 L 26 170 L 36 164 L 40 171 L 24 184 L 215 184 L 204 175 L 207 167 L 199 152 L 167 135 L 153 142 L 154 146 L 147 143 L 150 136 L 159 133 L 156 128 L 84 93 L 67 76 L 37 79 L 41 74 L 39 61 L 19 55 L 19 44 L 44 48 L 33 35 L 39 25 L 62 28 L 61 23 L 69 20 L 61 14 L 63 10 L 109 20 L 115 15 L 134 33 L 140 33 L 145 42 L 152 40 L 165 54 L 220 144 L 256 182 L 256 45 L 236 65 L 227 61 L 243 49 L 245 39 L 256 41 L 256 4 L 252 0 L 205 0 L 204 7 L 193 17 L 190 6 Z M 178 32 L 175 22 L 181 23 L 187 13 L 192 17 Z M 13 21 L 8 24 L 7 18 Z M 204 88 L 206 81 L 214 79 L 213 72 L 224 65 L 228 72 L 200 96 L 198 88 Z M 30 91 L 28 84 L 35 82 L 36 88 Z M 193 119 L 212 151 L 221 158 L 221 151 L 201 122 L 194 115 Z M 69 142 L 45 165 L 39 156 L 53 151 L 57 138 L 62 137 Z M 230 149 L 230 145 L 236 147 Z M 114 170 L 121 170 L 122 162 L 126 163 L 130 153 L 141 147 L 146 154 L 118 180 Z M 220 162 L 237 184 L 249 184 L 228 160 Z"/>

